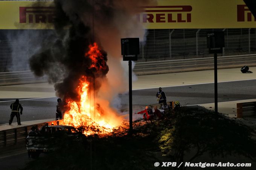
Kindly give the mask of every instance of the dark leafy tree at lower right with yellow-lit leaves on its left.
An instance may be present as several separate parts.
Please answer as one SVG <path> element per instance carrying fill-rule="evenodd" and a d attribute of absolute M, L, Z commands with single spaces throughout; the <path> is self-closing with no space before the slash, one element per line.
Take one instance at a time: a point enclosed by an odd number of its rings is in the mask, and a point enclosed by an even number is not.
<path fill-rule="evenodd" d="M 181 113 L 173 128 L 165 128 L 159 135 L 160 148 L 172 161 L 183 162 L 187 153 L 191 155 L 188 162 L 205 153 L 211 158 L 243 155 L 255 160 L 253 129 L 222 114 L 188 113 Z"/>

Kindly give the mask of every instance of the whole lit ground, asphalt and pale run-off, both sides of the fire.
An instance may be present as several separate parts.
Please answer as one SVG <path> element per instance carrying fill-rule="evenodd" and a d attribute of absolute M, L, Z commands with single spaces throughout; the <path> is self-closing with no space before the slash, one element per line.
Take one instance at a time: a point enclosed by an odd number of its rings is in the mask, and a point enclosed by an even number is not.
<path fill-rule="evenodd" d="M 256 73 L 256 67 L 250 70 Z M 222 82 L 218 85 L 219 112 L 234 116 L 234 108 L 239 100 L 255 98 L 255 73 L 242 74 L 239 68 L 218 70 L 218 81 Z M 133 112 L 140 111 L 145 105 L 157 103 L 155 93 L 160 86 L 166 92 L 167 101 L 180 101 L 181 105 L 200 104 L 206 108 L 214 108 L 213 79 L 213 70 L 139 76 L 138 80 L 133 83 Z M 2 125 L 8 123 L 9 105 L 15 98 L 21 99 L 20 103 L 24 107 L 21 122 L 55 118 L 57 98 L 53 86 L 47 83 L 2 86 L 0 98 L 2 112 L 0 124 Z M 128 108 L 128 93 L 120 95 L 120 99 L 121 109 Z M 14 118 L 13 124 L 15 121 Z"/>

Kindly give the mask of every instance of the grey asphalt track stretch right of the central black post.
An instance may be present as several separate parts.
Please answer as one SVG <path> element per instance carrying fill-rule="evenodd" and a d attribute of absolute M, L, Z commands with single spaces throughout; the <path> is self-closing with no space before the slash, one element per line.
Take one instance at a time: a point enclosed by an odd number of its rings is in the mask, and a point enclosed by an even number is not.
<path fill-rule="evenodd" d="M 254 99 L 256 80 L 218 83 L 218 102 Z M 154 104 L 158 89 L 133 91 L 133 104 Z M 214 83 L 163 87 L 167 101 L 179 101 L 181 105 L 196 105 L 214 102 Z"/>

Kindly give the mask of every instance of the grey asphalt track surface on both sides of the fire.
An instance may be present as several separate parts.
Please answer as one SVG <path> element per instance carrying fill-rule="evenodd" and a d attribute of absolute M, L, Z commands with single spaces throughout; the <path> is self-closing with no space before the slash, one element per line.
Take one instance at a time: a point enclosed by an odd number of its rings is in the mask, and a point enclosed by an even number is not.
<path fill-rule="evenodd" d="M 230 81 L 218 83 L 218 102 L 254 99 L 256 80 Z M 133 90 L 133 106 L 156 104 L 158 88 Z M 167 101 L 179 101 L 181 105 L 207 104 L 214 102 L 214 83 L 186 86 L 163 87 Z M 129 94 L 119 95 L 121 109 L 128 108 Z M 0 99 L 0 124 L 8 123 L 11 113 L 10 105 L 15 99 Z M 21 122 L 31 120 L 54 119 L 57 98 L 20 99 L 23 106 Z M 139 111 L 139 110 L 134 110 Z M 14 117 L 13 123 L 17 119 Z"/>

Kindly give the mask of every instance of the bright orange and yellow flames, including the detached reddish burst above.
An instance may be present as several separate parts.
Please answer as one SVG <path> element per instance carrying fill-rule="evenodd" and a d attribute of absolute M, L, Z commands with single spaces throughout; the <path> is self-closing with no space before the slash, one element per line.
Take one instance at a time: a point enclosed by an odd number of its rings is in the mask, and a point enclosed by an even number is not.
<path fill-rule="evenodd" d="M 85 54 L 85 57 L 91 59 L 89 69 L 96 69 L 96 72 L 105 69 L 107 66 L 96 43 L 89 46 L 89 51 Z M 120 125 L 122 120 L 117 118 L 115 111 L 109 107 L 108 101 L 102 103 L 102 100 L 98 101 L 98 98 L 95 97 L 93 78 L 82 76 L 78 87 L 76 87 L 76 92 L 80 97 L 80 101 L 66 99 L 66 107 L 69 109 L 64 113 L 63 121 L 66 125 L 76 128 L 83 126 L 85 135 L 106 134 Z M 101 105 L 98 102 L 101 102 Z"/>

